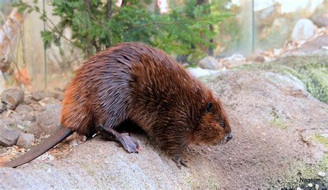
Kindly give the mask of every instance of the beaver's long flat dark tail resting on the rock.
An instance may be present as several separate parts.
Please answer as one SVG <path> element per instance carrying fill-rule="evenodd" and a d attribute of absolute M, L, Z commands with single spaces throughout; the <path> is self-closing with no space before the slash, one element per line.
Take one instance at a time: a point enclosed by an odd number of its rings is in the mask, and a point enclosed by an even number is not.
<path fill-rule="evenodd" d="M 39 157 L 49 149 L 53 148 L 56 144 L 62 142 L 66 137 L 69 137 L 73 131 L 62 125 L 60 125 L 54 133 L 52 133 L 48 138 L 43 140 L 40 144 L 37 144 L 32 150 L 28 151 L 24 155 L 19 156 L 19 158 L 3 164 L 2 167 L 19 167 L 22 164 L 26 164 Z"/>

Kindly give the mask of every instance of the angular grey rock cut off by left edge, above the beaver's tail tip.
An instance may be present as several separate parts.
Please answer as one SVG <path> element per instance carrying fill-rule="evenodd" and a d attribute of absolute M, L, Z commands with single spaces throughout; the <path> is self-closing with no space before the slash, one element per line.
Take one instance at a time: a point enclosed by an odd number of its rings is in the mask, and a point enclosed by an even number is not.
<path fill-rule="evenodd" d="M 20 133 L 19 130 L 0 124 L 0 146 L 8 147 L 16 144 Z"/>

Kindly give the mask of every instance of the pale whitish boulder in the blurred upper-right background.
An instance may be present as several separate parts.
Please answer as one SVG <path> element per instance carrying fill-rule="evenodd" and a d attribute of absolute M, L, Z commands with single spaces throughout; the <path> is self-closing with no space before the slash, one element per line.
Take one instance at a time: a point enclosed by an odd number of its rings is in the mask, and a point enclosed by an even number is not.
<path fill-rule="evenodd" d="M 307 40 L 314 35 L 315 26 L 309 19 L 300 19 L 295 24 L 291 39 L 293 41 Z"/>

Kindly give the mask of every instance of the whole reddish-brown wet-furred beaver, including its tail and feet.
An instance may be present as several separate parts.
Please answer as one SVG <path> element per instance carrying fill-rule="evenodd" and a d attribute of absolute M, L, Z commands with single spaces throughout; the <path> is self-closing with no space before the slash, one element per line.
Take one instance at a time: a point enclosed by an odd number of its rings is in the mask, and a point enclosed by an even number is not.
<path fill-rule="evenodd" d="M 233 137 L 212 91 L 163 50 L 136 42 L 117 44 L 85 61 L 66 86 L 62 104 L 61 124 L 53 134 L 5 167 L 30 162 L 73 132 L 99 133 L 138 153 L 129 133 L 117 130 L 127 120 L 180 168 L 187 167 L 181 154 L 189 144 L 225 144 Z"/>

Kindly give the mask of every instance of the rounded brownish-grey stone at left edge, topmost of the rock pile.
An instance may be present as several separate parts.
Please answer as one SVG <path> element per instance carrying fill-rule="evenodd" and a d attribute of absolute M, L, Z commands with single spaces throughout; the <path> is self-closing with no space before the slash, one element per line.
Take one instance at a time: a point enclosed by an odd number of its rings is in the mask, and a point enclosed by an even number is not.
<path fill-rule="evenodd" d="M 8 88 L 2 93 L 2 101 L 9 106 L 18 106 L 24 101 L 24 91 L 21 88 Z"/>

